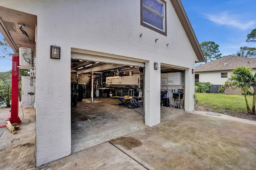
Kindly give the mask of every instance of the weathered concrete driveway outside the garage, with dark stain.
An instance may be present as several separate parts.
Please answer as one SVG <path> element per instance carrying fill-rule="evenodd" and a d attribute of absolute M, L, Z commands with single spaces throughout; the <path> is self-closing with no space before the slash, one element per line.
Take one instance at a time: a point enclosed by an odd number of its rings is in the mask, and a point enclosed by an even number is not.
<path fill-rule="evenodd" d="M 256 122 L 200 111 L 35 168 L 35 120 L 26 117 L 17 134 L 0 129 L 0 169 L 256 170 Z"/>

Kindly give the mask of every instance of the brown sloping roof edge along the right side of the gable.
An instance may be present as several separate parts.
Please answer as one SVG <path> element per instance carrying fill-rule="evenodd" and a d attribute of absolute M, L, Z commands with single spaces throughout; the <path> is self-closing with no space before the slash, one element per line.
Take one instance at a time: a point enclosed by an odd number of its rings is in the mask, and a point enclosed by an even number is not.
<path fill-rule="evenodd" d="M 188 16 L 182 6 L 182 3 L 180 0 L 170 0 L 172 3 L 172 6 L 174 7 L 174 10 L 182 24 L 182 27 L 184 28 L 186 35 L 188 36 L 188 39 L 190 41 L 190 44 L 192 45 L 194 52 L 196 53 L 196 56 L 198 58 L 199 62 L 206 62 L 204 58 L 204 54 L 202 53 L 202 49 L 198 43 L 198 40 L 196 38 L 196 35 L 194 33 L 194 30 L 190 24 L 190 21 L 188 20 Z"/>

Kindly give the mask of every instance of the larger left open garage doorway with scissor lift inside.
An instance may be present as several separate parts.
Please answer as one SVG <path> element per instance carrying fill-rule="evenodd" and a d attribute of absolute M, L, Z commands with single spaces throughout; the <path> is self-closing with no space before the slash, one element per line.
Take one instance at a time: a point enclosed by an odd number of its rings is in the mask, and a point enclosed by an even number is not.
<path fill-rule="evenodd" d="M 72 153 L 146 127 L 144 63 L 71 55 Z"/>

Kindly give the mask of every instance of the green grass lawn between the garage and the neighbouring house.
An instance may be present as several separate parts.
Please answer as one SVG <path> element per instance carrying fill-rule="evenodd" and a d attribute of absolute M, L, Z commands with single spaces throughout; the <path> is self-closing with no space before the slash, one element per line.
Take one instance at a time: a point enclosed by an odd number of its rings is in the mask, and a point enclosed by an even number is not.
<path fill-rule="evenodd" d="M 198 106 L 212 108 L 219 113 L 224 113 L 225 110 L 234 113 L 241 111 L 247 113 L 244 95 L 218 93 L 195 93 L 195 95 L 198 99 Z M 252 96 L 247 96 L 247 100 L 252 109 Z"/>

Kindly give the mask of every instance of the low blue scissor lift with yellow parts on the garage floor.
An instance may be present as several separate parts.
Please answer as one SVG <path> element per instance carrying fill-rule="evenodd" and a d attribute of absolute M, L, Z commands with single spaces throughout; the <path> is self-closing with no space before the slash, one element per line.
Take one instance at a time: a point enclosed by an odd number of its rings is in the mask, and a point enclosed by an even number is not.
<path fill-rule="evenodd" d="M 140 104 L 138 104 L 138 100 L 140 98 L 143 98 L 143 96 L 136 97 L 136 96 L 114 96 L 113 99 L 118 99 L 121 101 L 121 103 L 118 103 L 118 106 L 125 105 L 131 109 L 136 109 L 143 107 Z M 129 105 L 130 104 L 130 105 Z"/>

